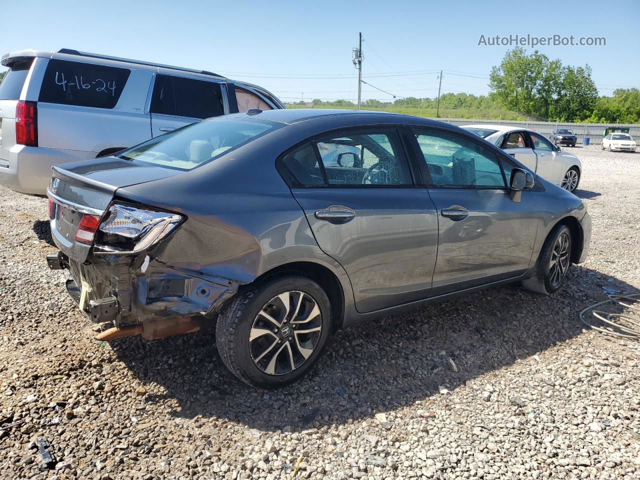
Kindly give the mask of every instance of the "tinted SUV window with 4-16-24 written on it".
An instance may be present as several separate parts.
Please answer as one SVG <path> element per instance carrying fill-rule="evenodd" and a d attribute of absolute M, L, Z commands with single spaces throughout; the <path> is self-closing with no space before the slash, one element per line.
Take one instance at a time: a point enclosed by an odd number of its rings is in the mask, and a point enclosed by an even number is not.
<path fill-rule="evenodd" d="M 114 108 L 131 70 L 79 61 L 49 60 L 40 102 Z"/>

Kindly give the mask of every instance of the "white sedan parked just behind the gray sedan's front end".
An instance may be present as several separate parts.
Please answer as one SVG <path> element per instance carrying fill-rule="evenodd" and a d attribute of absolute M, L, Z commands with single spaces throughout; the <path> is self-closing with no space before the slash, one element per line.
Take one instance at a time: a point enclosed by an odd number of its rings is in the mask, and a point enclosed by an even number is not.
<path fill-rule="evenodd" d="M 580 183 L 582 163 L 578 157 L 564 152 L 540 133 L 506 125 L 461 125 L 515 157 L 532 172 L 565 190 L 574 192 Z"/>

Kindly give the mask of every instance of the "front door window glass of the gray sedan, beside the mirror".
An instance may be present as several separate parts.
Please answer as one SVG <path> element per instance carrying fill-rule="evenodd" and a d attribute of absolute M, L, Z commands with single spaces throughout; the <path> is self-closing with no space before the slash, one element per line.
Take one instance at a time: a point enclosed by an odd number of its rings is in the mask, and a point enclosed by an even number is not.
<path fill-rule="evenodd" d="M 498 159 L 490 150 L 445 133 L 417 133 L 415 137 L 434 185 L 505 186 Z"/>

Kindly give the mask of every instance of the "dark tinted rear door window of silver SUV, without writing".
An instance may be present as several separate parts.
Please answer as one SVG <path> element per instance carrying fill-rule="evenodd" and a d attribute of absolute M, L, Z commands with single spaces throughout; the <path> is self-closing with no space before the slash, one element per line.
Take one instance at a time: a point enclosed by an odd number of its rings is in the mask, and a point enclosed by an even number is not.
<path fill-rule="evenodd" d="M 189 118 L 224 115 L 220 83 L 159 74 L 150 111 Z"/>

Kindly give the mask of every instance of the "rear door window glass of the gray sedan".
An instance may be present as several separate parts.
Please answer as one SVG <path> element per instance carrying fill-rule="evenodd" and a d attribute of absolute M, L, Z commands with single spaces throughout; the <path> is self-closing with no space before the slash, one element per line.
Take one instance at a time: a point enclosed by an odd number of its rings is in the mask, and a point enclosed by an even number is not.
<path fill-rule="evenodd" d="M 339 134 L 316 145 L 330 185 L 413 184 L 395 131 Z"/>

